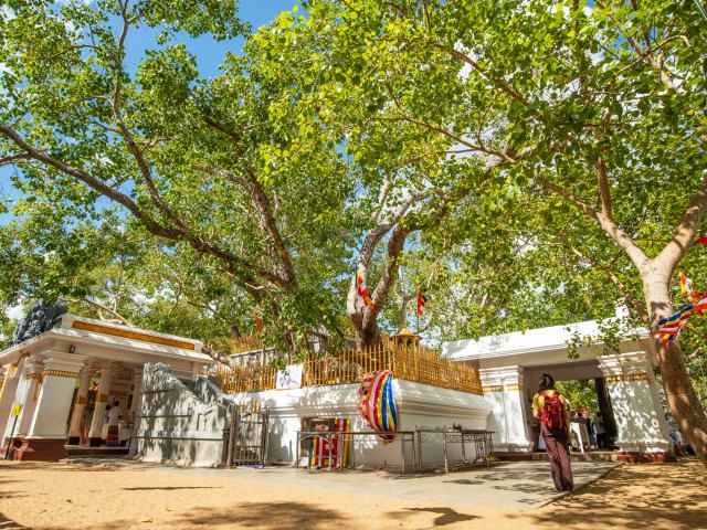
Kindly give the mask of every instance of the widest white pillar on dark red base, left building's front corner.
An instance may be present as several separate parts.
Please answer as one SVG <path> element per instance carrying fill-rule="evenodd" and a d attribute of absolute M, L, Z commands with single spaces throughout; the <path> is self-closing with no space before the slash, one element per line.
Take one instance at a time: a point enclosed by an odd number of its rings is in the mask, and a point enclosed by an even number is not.
<path fill-rule="evenodd" d="M 42 388 L 28 435 L 14 452 L 17 460 L 56 460 L 67 454 L 66 423 L 76 378 L 85 357 L 75 353 L 49 351 L 44 359 Z"/>

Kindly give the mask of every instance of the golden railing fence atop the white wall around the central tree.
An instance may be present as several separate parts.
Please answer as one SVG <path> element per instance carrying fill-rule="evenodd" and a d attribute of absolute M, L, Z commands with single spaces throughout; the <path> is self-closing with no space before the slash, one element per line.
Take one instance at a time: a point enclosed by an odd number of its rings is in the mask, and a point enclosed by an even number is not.
<path fill-rule="evenodd" d="M 391 370 L 398 379 L 483 395 L 478 370 L 441 359 L 435 350 L 422 346 L 394 343 L 367 349 L 340 350 L 303 361 L 302 385 L 357 383 L 367 372 Z M 277 369 L 268 367 L 219 367 L 215 377 L 225 393 L 258 392 L 275 388 Z"/>

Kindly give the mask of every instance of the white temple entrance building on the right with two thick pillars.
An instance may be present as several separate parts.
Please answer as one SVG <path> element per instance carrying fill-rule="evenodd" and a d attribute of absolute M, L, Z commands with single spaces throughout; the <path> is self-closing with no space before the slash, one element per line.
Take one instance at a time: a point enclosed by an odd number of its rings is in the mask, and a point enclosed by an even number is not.
<path fill-rule="evenodd" d="M 573 337 L 594 341 L 591 347 L 578 348 L 577 359 L 568 357 L 568 342 Z M 484 396 L 493 410 L 488 428 L 495 431 L 496 452 L 519 455 L 534 449 L 532 396 L 546 372 L 556 381 L 605 381 L 620 459 L 669 458 L 672 443 L 653 374 L 654 339 L 646 329 L 630 330 L 624 337 L 618 351 L 608 352 L 599 324 L 590 320 L 447 342 L 442 356 L 478 369 Z"/>

